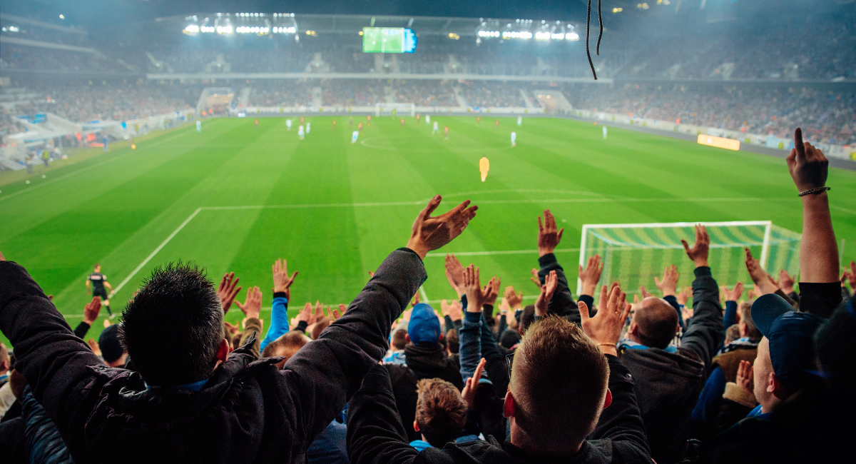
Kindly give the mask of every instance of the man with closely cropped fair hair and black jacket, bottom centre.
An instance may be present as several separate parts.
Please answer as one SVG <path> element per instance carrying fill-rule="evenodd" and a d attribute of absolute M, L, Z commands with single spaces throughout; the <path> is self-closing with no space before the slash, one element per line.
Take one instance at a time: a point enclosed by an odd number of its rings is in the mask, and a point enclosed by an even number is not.
<path fill-rule="evenodd" d="M 505 397 L 504 443 L 488 437 L 419 454 L 407 444 L 386 370 L 373 368 L 348 407 L 351 462 L 651 462 L 632 378 L 615 356 L 629 314 L 624 300 L 621 289 L 607 295 L 603 287 L 594 318 L 581 305 L 585 333 L 556 316 L 526 331 Z"/>

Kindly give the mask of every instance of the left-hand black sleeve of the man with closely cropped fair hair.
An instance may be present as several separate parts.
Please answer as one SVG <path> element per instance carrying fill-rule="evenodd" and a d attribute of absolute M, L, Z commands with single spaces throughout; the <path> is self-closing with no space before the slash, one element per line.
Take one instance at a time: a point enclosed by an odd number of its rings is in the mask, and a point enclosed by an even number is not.
<path fill-rule="evenodd" d="M 412 462 L 419 451 L 407 443 L 406 436 L 389 372 L 381 365 L 372 366 L 348 403 L 348 458 L 351 464 Z"/>

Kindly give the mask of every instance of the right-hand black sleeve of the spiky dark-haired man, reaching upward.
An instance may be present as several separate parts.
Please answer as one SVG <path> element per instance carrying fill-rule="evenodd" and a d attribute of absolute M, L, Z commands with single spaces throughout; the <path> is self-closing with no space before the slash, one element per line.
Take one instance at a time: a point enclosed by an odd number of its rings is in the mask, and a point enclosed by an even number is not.
<path fill-rule="evenodd" d="M 407 248 L 390 253 L 348 311 L 286 361 L 279 371 L 280 401 L 288 405 L 282 420 L 289 424 L 295 449 L 305 450 L 342 412 L 366 372 L 378 366 L 389 348 L 392 321 L 425 277 L 418 254 Z"/>

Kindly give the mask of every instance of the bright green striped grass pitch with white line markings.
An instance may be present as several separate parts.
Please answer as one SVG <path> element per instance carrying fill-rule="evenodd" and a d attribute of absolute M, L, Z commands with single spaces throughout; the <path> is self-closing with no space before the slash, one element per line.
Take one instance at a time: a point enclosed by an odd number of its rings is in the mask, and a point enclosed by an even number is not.
<path fill-rule="evenodd" d="M 443 117 L 449 140 L 424 120 L 373 117 L 351 144 L 348 117 L 307 117 L 298 140 L 282 118 L 216 119 L 140 140 L 29 178 L 0 174 L 0 250 L 27 267 L 73 327 L 86 276 L 100 263 L 121 311 L 143 277 L 178 259 L 258 285 L 270 312 L 270 265 L 300 271 L 292 309 L 306 300 L 349 302 L 383 258 L 407 242 L 427 199 L 440 210 L 479 205 L 467 231 L 425 259 L 430 300 L 452 298 L 442 256 L 458 253 L 534 297 L 536 217 L 550 208 L 565 227 L 557 253 L 576 277 L 584 223 L 772 220 L 802 229 L 800 200 L 783 159 L 562 119 Z M 365 116 L 354 116 L 356 122 Z M 365 124 L 364 124 L 365 126 Z M 518 134 L 511 148 L 509 134 Z M 479 158 L 490 158 L 482 182 Z M 15 173 L 20 175 L 18 173 Z M 5 185 L 3 185 L 5 184 Z M 832 217 L 845 259 L 856 259 L 856 172 L 829 170 Z M 660 199 L 666 201 L 659 201 Z M 520 253 L 502 253 L 520 252 Z M 136 271 L 136 272 L 135 272 Z M 486 276 L 486 278 L 484 277 Z M 687 284 L 690 276 L 681 276 Z M 570 279 L 569 279 L 570 280 Z M 653 284 L 653 283 L 651 283 Z M 729 283 L 730 284 L 730 283 Z M 102 312 L 104 315 L 104 312 Z M 262 313 L 265 318 L 266 312 Z M 233 306 L 228 320 L 241 312 Z M 100 321 L 89 332 L 97 337 Z M 266 327 L 265 327 L 266 329 Z"/>

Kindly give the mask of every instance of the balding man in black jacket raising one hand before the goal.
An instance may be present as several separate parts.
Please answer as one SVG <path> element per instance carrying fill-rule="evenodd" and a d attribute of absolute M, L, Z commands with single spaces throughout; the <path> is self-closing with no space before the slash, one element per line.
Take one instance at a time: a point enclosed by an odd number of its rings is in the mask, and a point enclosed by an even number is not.
<path fill-rule="evenodd" d="M 694 315 L 687 322 L 680 348 L 669 347 L 678 330 L 675 308 L 666 300 L 648 297 L 633 316 L 621 344 L 621 360 L 636 378 L 633 390 L 648 432 L 651 457 L 661 464 L 681 460 L 687 449 L 690 415 L 704 388 L 710 360 L 722 344 L 719 289 L 707 263 L 710 238 L 696 226 L 695 245 L 684 241 L 696 265 L 693 281 Z M 665 279 L 664 279 L 665 280 Z"/>

